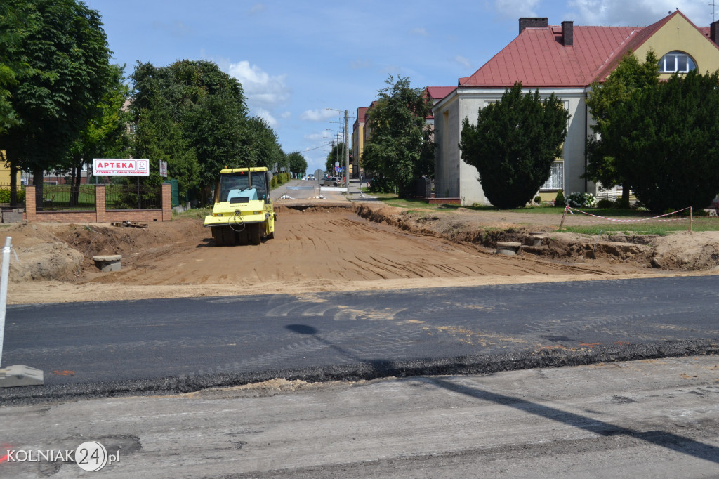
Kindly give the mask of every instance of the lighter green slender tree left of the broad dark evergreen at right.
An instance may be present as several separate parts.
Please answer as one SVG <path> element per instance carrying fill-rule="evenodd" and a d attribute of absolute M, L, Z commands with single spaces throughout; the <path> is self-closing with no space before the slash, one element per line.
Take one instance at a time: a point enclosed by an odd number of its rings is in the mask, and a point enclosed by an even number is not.
<path fill-rule="evenodd" d="M 583 177 L 600 182 L 603 188 L 622 185 L 622 203 L 628 206 L 632 185 L 628 183 L 627 166 L 631 160 L 619 140 L 631 124 L 623 117 L 619 107 L 623 102 L 646 89 L 656 88 L 659 82 L 659 66 L 656 55 L 650 50 L 644 63 L 633 53 L 622 58 L 617 68 L 604 83 L 594 83 L 587 96 L 595 124 L 592 131 L 598 136 L 587 145 L 587 172 Z"/>

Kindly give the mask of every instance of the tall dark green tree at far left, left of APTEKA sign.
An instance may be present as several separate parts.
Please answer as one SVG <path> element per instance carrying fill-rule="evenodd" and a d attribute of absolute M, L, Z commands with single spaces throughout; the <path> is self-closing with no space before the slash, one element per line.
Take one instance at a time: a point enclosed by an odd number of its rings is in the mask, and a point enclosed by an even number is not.
<path fill-rule="evenodd" d="M 11 177 L 32 170 L 42 204 L 44 170 L 67 158 L 78 134 L 96 117 L 110 75 L 110 50 L 98 12 L 75 0 L 5 0 L 8 25 L 1 36 L 3 65 L 15 82 L 5 88 L 17 123 L 0 136 Z M 5 27 L 5 25 L 3 25 Z M 22 65 L 14 69 L 14 65 Z M 7 76 L 6 76 L 7 77 Z"/>

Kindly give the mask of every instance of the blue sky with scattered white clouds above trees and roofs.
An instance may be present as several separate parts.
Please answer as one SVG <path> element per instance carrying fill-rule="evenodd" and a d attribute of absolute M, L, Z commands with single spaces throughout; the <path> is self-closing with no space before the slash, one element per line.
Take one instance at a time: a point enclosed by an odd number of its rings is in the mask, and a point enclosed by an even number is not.
<path fill-rule="evenodd" d="M 344 114 L 326 108 L 349 110 L 351 132 L 357 108 L 390 75 L 416 88 L 454 86 L 516 37 L 519 17 L 645 26 L 679 8 L 702 27 L 714 13 L 707 0 L 86 3 L 100 12 L 112 61 L 126 64 L 126 75 L 137 61 L 214 61 L 242 83 L 250 114 L 267 120 L 285 153 L 302 152 L 308 172 L 324 169 L 336 134 L 327 129 L 344 127 Z"/>

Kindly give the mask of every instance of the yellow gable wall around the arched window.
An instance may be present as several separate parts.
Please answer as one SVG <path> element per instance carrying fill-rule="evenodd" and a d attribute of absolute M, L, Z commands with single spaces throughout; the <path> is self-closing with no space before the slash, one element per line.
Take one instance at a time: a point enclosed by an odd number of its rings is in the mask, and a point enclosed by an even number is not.
<path fill-rule="evenodd" d="M 681 15 L 674 15 L 669 19 L 669 22 L 646 40 L 644 45 L 638 47 L 634 54 L 638 60 L 644 61 L 650 49 L 654 50 L 656 58 L 661 58 L 674 50 L 687 53 L 694 59 L 699 73 L 713 73 L 719 69 L 717 45 Z M 669 73 L 663 73 L 660 78 L 669 78 L 669 76 Z"/>

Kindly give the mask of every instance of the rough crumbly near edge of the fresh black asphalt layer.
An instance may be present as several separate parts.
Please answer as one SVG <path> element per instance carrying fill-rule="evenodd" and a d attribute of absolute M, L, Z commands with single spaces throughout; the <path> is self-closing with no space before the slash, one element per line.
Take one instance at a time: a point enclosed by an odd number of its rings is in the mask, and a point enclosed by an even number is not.
<path fill-rule="evenodd" d="M 669 340 L 636 345 L 597 345 L 577 349 L 549 347 L 503 355 L 470 355 L 411 361 L 372 360 L 347 365 L 263 370 L 249 373 L 216 373 L 152 380 L 0 388 L 0 403 L 6 406 L 77 401 L 89 398 L 168 396 L 208 388 L 228 388 L 249 383 L 261 383 L 277 378 L 323 383 L 336 380 L 357 381 L 431 375 L 490 375 L 510 370 L 563 368 L 600 362 L 701 355 L 719 355 L 719 338 Z"/>

